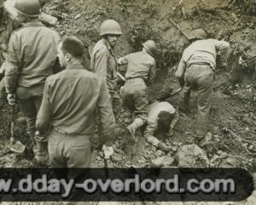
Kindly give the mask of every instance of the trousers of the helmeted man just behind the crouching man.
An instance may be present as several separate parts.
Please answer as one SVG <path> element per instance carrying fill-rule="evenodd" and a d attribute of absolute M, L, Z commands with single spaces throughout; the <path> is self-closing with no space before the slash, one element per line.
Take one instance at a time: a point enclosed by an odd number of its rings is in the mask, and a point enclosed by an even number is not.
<path fill-rule="evenodd" d="M 122 89 L 123 105 L 128 107 L 135 118 L 141 118 L 143 122 L 148 118 L 148 93 L 143 78 L 127 80 Z"/>

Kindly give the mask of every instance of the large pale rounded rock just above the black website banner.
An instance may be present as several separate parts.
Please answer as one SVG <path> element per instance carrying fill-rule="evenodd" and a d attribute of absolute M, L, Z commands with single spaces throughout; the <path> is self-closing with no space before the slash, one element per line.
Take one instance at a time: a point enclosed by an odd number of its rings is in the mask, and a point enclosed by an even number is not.
<path fill-rule="evenodd" d="M 177 150 L 178 167 L 181 168 L 208 168 L 209 159 L 206 151 L 198 145 L 183 145 Z"/>

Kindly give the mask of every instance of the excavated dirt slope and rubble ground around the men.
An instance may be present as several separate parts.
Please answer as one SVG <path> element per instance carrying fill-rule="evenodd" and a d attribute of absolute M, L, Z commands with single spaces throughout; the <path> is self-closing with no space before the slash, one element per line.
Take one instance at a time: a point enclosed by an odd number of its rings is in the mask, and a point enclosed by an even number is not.
<path fill-rule="evenodd" d="M 124 35 L 115 49 L 117 57 L 142 48 L 141 43 L 154 39 L 160 47 L 157 56 L 157 77 L 148 89 L 149 100 L 156 99 L 161 91 L 177 86 L 174 71 L 188 41 L 171 22 L 189 36 L 196 28 L 203 28 L 210 37 L 230 42 L 228 68 L 217 69 L 214 83 L 209 130 L 213 140 L 203 149 L 211 161 L 210 167 L 245 168 L 256 173 L 256 17 L 244 9 L 243 1 L 228 0 L 51 0 L 44 11 L 58 18 L 55 30 L 61 37 L 75 35 L 82 39 L 85 48 L 91 48 L 100 38 L 99 27 L 108 18 L 118 20 Z M 89 59 L 89 53 L 88 53 Z M 88 64 L 89 65 L 89 64 Z M 125 67 L 120 68 L 125 70 Z M 120 81 L 119 86 L 123 83 Z M 232 87 L 232 88 L 231 88 Z M 168 99 L 177 107 L 181 94 Z M 16 109 L 16 118 L 21 115 Z M 29 154 L 20 156 L 6 149 L 9 143 L 11 109 L 5 105 L 0 124 L 0 166 L 3 168 L 32 168 L 40 165 Z M 130 111 L 122 109 L 117 119 L 115 153 L 109 162 L 113 168 L 150 168 L 159 157 L 168 156 L 176 167 L 177 151 L 183 145 L 197 144 L 195 140 L 196 93 L 192 94 L 189 113 L 180 113 L 180 120 L 171 139 L 163 141 L 169 152 L 158 151 L 140 137 L 137 145 L 128 145 L 125 126 L 132 121 Z M 26 126 L 16 123 L 15 136 L 26 142 Z M 96 137 L 92 140 L 96 144 Z M 224 160 L 219 159 L 224 154 Z M 193 164 L 192 164 L 193 165 Z M 192 166 L 191 165 L 191 166 Z M 92 167 L 103 168 L 102 152 L 93 150 Z M 196 167 L 196 166 L 195 166 Z M 254 174 L 255 175 L 255 174 Z M 256 194 L 246 202 L 124 202 L 124 204 L 256 204 Z M 17 203 L 15 203 L 17 204 Z M 44 204 L 44 203 L 42 203 Z M 98 204 L 92 202 L 91 204 Z M 102 202 L 100 203 L 102 204 Z M 105 203 L 104 203 L 105 204 Z M 115 204 L 115 203 L 106 203 Z M 116 204 L 120 204 L 116 203 Z"/>

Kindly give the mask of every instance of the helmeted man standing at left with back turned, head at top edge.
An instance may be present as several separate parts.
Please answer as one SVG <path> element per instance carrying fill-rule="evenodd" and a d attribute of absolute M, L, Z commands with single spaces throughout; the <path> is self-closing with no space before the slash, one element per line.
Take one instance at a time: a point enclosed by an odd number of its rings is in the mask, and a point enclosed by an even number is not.
<path fill-rule="evenodd" d="M 59 35 L 38 20 L 41 5 L 38 0 L 16 0 L 15 9 L 20 29 L 9 40 L 9 52 L 5 71 L 5 87 L 10 104 L 18 100 L 26 117 L 27 134 L 37 142 L 36 160 L 41 158 L 44 137 L 36 135 L 36 117 L 40 108 L 46 77 L 55 65 Z M 31 146 L 31 147 L 30 147 Z M 32 145 L 28 148 L 32 148 Z"/>

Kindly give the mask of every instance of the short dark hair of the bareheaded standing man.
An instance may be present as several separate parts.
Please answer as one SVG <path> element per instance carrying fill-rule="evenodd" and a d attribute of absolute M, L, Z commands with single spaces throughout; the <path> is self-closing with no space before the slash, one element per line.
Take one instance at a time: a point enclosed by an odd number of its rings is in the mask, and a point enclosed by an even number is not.
<path fill-rule="evenodd" d="M 64 54 L 71 54 L 75 58 L 82 58 L 84 55 L 84 43 L 78 37 L 65 37 L 61 43 Z"/>

